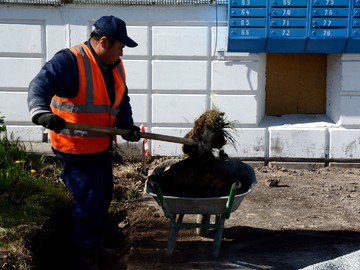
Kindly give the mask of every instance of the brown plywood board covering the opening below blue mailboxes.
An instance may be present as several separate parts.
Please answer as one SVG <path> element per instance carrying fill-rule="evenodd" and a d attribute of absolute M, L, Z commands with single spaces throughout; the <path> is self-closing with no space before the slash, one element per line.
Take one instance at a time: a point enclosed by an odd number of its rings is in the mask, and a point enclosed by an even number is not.
<path fill-rule="evenodd" d="M 326 54 L 267 54 L 267 115 L 325 114 Z"/>

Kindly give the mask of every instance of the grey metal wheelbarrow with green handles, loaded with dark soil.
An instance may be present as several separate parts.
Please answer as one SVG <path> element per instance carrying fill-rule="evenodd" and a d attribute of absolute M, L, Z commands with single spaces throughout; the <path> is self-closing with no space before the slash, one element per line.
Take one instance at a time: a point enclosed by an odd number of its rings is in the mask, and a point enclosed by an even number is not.
<path fill-rule="evenodd" d="M 174 163 L 175 161 L 171 160 L 169 162 Z M 153 174 L 164 171 L 170 165 L 169 162 L 158 165 Z M 251 166 L 241 161 L 224 161 L 223 168 L 239 177 L 239 179 L 246 176 L 250 181 L 250 188 L 244 193 L 237 194 L 237 189 L 241 184 L 237 179 L 234 179 L 228 196 L 209 198 L 174 197 L 166 196 L 162 193 L 161 187 L 156 182 L 147 180 L 146 192 L 156 200 L 162 208 L 165 217 L 169 219 L 167 255 L 172 255 L 180 229 L 196 228 L 196 232 L 202 236 L 206 235 L 210 229 L 215 230 L 212 256 L 214 258 L 218 257 L 225 220 L 229 219 L 231 213 L 237 210 L 243 199 L 252 191 L 253 186 L 256 184 L 254 170 Z M 184 215 L 188 214 L 196 215 L 196 222 L 184 222 Z M 213 223 L 211 223 L 211 215 L 215 215 Z"/>

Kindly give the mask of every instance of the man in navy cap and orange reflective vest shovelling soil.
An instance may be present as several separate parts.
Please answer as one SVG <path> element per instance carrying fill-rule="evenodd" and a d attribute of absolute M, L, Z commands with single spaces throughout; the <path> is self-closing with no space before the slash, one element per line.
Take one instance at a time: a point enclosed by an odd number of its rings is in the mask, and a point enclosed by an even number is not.
<path fill-rule="evenodd" d="M 139 141 L 134 125 L 123 48 L 136 47 L 126 24 L 103 16 L 90 39 L 59 51 L 29 85 L 28 106 L 34 124 L 50 129 L 53 152 L 64 164 L 62 181 L 73 196 L 76 269 L 99 269 L 99 256 L 114 255 L 102 246 L 105 218 L 112 200 L 113 138 L 65 129 L 66 122 L 129 130 L 127 141 Z"/>

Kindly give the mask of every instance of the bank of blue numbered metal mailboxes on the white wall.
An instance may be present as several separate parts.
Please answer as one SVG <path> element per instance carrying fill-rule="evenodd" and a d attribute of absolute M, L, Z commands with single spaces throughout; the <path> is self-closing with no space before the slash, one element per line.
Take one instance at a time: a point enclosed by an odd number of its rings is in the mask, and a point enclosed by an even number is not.
<path fill-rule="evenodd" d="M 228 51 L 360 53 L 360 0 L 229 0 Z"/>

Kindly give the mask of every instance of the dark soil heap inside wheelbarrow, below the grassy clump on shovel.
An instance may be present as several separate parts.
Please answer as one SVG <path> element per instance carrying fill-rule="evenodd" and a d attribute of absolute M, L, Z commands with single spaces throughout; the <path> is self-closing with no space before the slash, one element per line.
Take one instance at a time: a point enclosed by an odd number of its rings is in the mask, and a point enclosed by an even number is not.
<path fill-rule="evenodd" d="M 221 159 L 186 158 L 169 163 L 160 173 L 148 179 L 159 185 L 163 195 L 188 198 L 222 197 L 229 195 L 231 186 L 240 183 L 237 194 L 249 190 L 251 181 L 246 175 L 235 175 L 222 166 Z"/>

